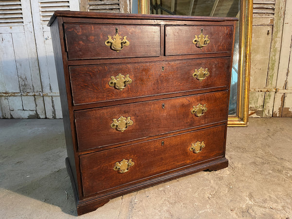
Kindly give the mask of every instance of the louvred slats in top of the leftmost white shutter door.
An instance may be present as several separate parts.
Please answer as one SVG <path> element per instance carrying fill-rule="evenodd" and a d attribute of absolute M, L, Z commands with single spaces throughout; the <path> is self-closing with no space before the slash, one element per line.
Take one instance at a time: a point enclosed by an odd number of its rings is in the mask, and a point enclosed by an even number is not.
<path fill-rule="evenodd" d="M 23 24 L 20 0 L 0 0 L 0 25 Z"/>

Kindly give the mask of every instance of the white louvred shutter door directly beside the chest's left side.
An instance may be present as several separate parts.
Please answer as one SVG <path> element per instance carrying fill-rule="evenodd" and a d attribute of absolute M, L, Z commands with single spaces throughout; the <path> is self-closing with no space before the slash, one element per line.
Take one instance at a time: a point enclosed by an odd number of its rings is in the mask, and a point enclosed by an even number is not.
<path fill-rule="evenodd" d="M 52 38 L 47 23 L 56 10 L 79 10 L 78 0 L 31 0 L 37 57 L 47 118 L 62 118 Z"/>

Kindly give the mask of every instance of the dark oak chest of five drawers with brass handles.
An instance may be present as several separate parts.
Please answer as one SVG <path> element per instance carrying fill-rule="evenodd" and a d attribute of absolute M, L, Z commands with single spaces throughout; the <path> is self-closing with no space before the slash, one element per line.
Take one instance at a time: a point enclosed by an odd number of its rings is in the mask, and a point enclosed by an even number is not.
<path fill-rule="evenodd" d="M 235 18 L 56 11 L 78 215 L 225 158 Z"/>

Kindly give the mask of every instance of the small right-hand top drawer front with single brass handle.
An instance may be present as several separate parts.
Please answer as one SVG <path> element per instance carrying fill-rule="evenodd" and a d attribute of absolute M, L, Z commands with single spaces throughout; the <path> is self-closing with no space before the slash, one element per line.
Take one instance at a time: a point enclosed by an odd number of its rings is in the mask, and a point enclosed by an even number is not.
<path fill-rule="evenodd" d="M 196 38 L 200 38 L 195 43 Z M 197 36 L 197 37 L 196 37 Z M 206 37 L 209 42 L 207 43 Z M 198 42 L 199 41 L 199 42 Z M 200 44 L 199 44 L 200 43 Z M 190 55 L 231 52 L 232 26 L 166 26 L 165 55 Z"/>

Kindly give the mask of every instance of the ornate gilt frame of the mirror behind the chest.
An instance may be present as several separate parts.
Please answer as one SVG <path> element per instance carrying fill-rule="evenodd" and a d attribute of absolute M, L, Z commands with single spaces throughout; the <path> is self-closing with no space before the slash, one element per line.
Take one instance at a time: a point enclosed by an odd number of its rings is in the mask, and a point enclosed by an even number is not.
<path fill-rule="evenodd" d="M 149 0 L 138 0 L 138 11 L 139 14 L 149 14 Z M 235 115 L 228 116 L 229 127 L 248 125 L 252 18 L 253 1 L 240 0 L 237 110 Z"/>

